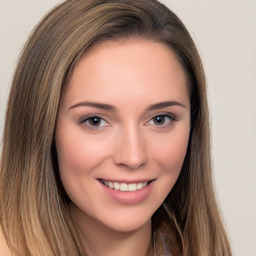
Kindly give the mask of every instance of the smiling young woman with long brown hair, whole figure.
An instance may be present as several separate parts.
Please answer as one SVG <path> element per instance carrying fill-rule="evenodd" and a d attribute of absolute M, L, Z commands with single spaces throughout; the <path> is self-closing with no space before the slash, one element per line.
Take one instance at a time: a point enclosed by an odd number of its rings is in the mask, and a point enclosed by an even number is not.
<path fill-rule="evenodd" d="M 10 92 L 2 248 L 231 255 L 205 87 L 189 33 L 157 1 L 57 6 L 29 38 Z"/>

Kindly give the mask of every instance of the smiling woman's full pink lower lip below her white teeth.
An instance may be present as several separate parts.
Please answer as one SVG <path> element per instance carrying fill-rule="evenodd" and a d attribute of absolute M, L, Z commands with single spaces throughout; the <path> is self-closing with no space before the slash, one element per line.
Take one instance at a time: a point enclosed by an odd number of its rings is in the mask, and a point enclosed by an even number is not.
<path fill-rule="evenodd" d="M 113 188 L 109 188 L 100 182 L 104 192 L 107 193 L 114 200 L 116 200 L 122 204 L 137 204 L 137 203 L 144 201 L 149 196 L 149 194 L 152 190 L 152 187 L 153 187 L 153 183 L 154 182 L 152 181 L 146 187 L 136 190 L 136 191 L 123 192 L 120 190 L 115 190 Z"/>

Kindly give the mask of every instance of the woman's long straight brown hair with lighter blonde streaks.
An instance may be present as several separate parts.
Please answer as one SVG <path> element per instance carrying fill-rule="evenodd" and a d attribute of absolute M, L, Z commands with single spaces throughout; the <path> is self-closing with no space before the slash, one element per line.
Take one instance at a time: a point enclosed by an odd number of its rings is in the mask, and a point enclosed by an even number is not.
<path fill-rule="evenodd" d="M 14 255 L 86 255 L 62 187 L 54 145 L 60 96 L 90 47 L 106 40 L 168 45 L 187 75 L 191 134 L 174 188 L 152 217 L 156 255 L 230 256 L 212 182 L 206 82 L 179 18 L 155 0 L 69 0 L 29 37 L 7 106 L 0 178 L 0 223 Z"/>

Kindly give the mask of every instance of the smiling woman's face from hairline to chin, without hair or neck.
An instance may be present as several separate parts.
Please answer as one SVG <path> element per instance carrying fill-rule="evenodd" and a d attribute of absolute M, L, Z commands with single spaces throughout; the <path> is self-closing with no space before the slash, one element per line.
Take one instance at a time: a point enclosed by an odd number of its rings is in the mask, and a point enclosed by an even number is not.
<path fill-rule="evenodd" d="M 164 44 L 105 42 L 79 61 L 63 92 L 56 148 L 78 219 L 128 232 L 150 223 L 187 150 L 185 73 Z"/>

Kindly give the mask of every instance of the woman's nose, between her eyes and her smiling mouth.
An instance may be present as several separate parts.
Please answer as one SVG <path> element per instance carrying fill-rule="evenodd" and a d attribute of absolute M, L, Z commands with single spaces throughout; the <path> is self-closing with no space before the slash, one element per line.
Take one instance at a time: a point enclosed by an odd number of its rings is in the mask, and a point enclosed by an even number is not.
<path fill-rule="evenodd" d="M 145 142 L 138 128 L 130 127 L 121 131 L 114 162 L 133 170 L 147 162 Z"/>

